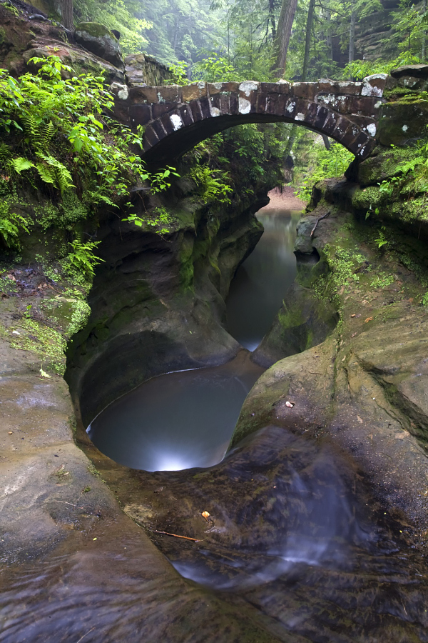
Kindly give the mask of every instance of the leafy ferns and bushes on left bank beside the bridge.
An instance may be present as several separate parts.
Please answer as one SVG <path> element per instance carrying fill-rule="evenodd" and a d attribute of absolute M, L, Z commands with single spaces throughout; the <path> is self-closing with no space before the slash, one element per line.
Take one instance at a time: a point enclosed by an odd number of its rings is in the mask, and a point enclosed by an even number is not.
<path fill-rule="evenodd" d="M 64 80 L 61 73 L 69 74 L 71 69 L 58 56 L 32 61 L 39 67 L 36 75 L 28 73 L 16 80 L 6 70 L 0 71 L 0 129 L 10 139 L 0 146 L 0 167 L 4 176 L 22 176 L 32 186 L 39 179 L 61 193 L 62 204 L 41 213 L 44 229 L 51 225 L 70 229 L 101 204 L 118 208 L 133 184 L 148 181 L 153 193 L 170 186 L 170 179 L 178 176 L 174 168 L 152 174 L 141 156 L 131 152 L 131 145 L 141 148 L 143 129 L 133 132 L 104 115 L 113 105 L 113 96 L 103 78 L 88 74 Z M 24 155 L 16 156 L 14 149 Z M 13 216 L 2 219 L 8 244 L 17 238 L 23 223 Z M 87 244 L 85 250 L 89 250 Z M 76 246 L 68 265 L 91 274 L 91 261 L 85 256 Z"/>

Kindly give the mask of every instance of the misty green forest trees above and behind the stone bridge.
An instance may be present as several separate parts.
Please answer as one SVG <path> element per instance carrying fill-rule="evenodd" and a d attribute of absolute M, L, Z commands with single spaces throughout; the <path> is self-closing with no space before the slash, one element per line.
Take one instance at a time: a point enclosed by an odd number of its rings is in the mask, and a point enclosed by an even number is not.
<path fill-rule="evenodd" d="M 209 59 L 225 80 L 268 81 L 357 79 L 427 57 L 427 0 L 74 0 L 73 19 L 188 79 L 211 79 Z"/>

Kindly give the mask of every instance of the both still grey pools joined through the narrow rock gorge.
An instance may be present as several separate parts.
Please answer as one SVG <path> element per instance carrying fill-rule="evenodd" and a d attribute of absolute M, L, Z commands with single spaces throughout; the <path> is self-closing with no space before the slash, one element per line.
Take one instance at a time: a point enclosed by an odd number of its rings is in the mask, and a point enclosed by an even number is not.
<path fill-rule="evenodd" d="M 265 231 L 238 268 L 227 301 L 228 330 L 248 351 L 270 328 L 295 279 L 300 211 L 264 209 Z M 118 464 L 146 471 L 210 467 L 228 449 L 240 409 L 263 373 L 248 352 L 220 367 L 168 373 L 110 404 L 87 432 Z"/>

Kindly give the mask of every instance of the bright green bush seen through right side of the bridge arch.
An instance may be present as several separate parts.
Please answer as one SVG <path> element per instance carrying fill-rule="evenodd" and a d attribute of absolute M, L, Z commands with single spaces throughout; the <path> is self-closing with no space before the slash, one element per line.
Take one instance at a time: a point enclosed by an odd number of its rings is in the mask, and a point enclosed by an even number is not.
<path fill-rule="evenodd" d="M 326 149 L 324 145 L 315 146 L 311 166 L 296 194 L 300 199 L 309 201 L 312 186 L 317 181 L 330 179 L 333 176 L 342 176 L 353 159 L 354 155 L 340 143 L 333 143 L 330 149 Z"/>

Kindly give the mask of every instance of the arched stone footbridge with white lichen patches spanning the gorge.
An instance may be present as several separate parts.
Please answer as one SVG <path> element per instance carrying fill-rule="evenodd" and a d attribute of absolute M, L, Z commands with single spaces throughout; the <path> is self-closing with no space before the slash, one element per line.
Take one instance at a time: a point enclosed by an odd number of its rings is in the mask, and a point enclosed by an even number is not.
<path fill-rule="evenodd" d="M 358 159 L 372 150 L 386 74 L 362 82 L 205 83 L 131 86 L 113 83 L 115 114 L 145 128 L 144 159 L 165 164 L 203 139 L 243 123 L 295 123 L 339 141 Z"/>

